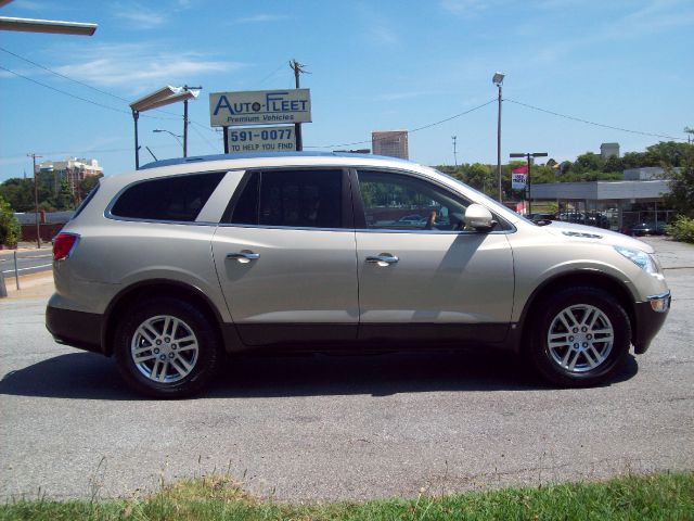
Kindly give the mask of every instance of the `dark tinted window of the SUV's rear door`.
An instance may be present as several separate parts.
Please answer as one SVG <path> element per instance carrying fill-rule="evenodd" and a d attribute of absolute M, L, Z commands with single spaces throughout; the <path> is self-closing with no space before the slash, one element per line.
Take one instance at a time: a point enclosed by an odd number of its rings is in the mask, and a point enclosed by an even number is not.
<path fill-rule="evenodd" d="M 231 223 L 293 228 L 343 227 L 342 170 L 273 170 L 248 178 Z"/>

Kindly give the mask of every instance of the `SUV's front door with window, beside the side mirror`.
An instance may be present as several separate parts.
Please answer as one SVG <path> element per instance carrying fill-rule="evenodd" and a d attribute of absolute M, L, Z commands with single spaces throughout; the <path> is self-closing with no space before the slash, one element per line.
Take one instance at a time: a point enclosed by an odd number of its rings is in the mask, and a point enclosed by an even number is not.
<path fill-rule="evenodd" d="M 470 203 L 428 180 L 385 170 L 357 177 L 359 338 L 502 341 L 514 289 L 505 232 L 462 229 Z"/>

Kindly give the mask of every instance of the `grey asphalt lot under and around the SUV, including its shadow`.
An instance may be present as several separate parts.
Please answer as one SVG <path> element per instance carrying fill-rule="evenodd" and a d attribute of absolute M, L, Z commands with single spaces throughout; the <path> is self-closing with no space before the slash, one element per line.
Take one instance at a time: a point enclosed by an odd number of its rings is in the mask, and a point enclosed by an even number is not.
<path fill-rule="evenodd" d="M 247 358 L 197 399 L 140 399 L 55 344 L 50 282 L 0 301 L 0 495 L 130 495 L 230 472 L 279 500 L 439 494 L 694 468 L 694 246 L 646 239 L 673 294 L 611 385 L 552 390 L 502 355 Z"/>

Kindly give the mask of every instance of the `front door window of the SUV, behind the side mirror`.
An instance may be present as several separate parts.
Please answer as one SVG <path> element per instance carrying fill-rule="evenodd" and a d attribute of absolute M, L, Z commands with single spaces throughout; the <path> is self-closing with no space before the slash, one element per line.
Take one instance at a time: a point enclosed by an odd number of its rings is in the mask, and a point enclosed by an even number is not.
<path fill-rule="evenodd" d="M 468 203 L 412 176 L 361 170 L 359 190 L 367 228 L 460 230 Z"/>

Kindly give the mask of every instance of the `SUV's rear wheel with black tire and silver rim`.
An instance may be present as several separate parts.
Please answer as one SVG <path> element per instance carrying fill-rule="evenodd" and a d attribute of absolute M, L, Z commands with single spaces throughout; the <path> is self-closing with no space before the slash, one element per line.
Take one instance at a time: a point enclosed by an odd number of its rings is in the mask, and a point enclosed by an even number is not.
<path fill-rule="evenodd" d="M 166 317 L 170 317 L 168 322 Z M 140 330 L 145 323 L 151 338 Z M 168 331 L 164 331 L 165 323 Z M 142 356 L 140 361 L 136 361 L 133 350 Z M 201 392 L 223 359 L 216 329 L 205 314 L 171 297 L 146 300 L 128 313 L 116 328 L 114 354 L 127 384 L 155 398 L 182 398 Z M 155 381 L 157 374 L 165 381 Z"/>

